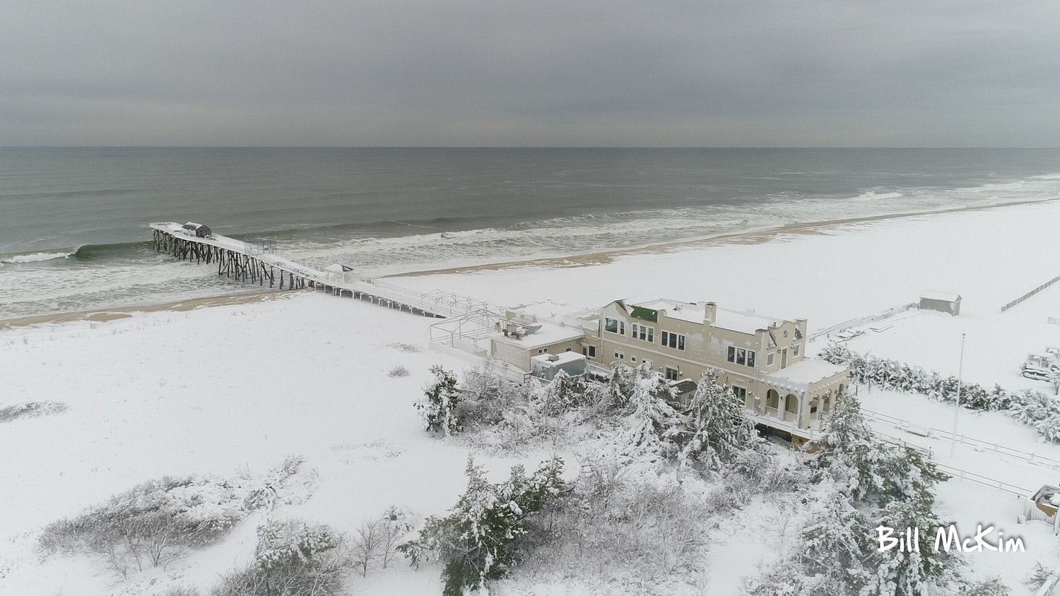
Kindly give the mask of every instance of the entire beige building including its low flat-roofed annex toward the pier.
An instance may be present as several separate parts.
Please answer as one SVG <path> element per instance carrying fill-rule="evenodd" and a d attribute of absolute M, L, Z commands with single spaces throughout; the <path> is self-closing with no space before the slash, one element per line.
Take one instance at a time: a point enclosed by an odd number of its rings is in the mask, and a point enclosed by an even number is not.
<path fill-rule="evenodd" d="M 637 366 L 646 361 L 674 383 L 696 382 L 711 372 L 744 401 L 756 423 L 796 441 L 813 438 L 823 414 L 850 385 L 847 367 L 805 358 L 805 319 L 672 300 L 615 301 L 603 308 L 568 311 L 552 303 L 526 305 L 505 312 L 504 321 L 493 319 L 492 328 L 450 330 L 439 338 L 449 346 L 461 347 L 463 342 L 476 355 L 508 362 L 513 378 L 530 376 L 533 357 L 562 354 L 569 359 L 566 353 L 583 356 L 589 371 L 600 374 L 610 373 L 616 363 Z"/>

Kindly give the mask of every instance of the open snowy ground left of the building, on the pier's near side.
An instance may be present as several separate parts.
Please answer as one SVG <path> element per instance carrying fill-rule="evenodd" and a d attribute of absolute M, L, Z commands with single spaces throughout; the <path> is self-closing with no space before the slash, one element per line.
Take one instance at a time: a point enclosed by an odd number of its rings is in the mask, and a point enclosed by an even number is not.
<path fill-rule="evenodd" d="M 3 332 L 0 407 L 58 401 L 69 409 L 0 426 L 0 594 L 155 593 L 148 583 L 171 577 L 208 589 L 248 561 L 252 520 L 224 544 L 130 582 L 116 583 L 87 559 L 37 564 L 32 548 L 43 525 L 165 474 L 264 473 L 294 453 L 316 471 L 317 486 L 278 517 L 349 531 L 390 505 L 443 513 L 463 492 L 467 450 L 424 433 L 411 403 L 431 364 L 460 369 L 466 362 L 426 351 L 430 322 L 292 294 Z M 411 374 L 387 376 L 399 364 Z M 510 466 L 536 467 L 548 455 L 476 459 L 499 481 Z M 403 561 L 396 568 L 357 589 L 440 593 L 437 570 L 411 573 Z"/>

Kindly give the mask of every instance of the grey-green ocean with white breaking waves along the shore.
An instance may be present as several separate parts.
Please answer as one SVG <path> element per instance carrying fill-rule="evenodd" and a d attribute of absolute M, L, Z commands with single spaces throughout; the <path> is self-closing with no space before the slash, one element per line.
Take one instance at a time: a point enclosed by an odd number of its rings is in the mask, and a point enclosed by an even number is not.
<path fill-rule="evenodd" d="M 198 221 L 365 276 L 1060 197 L 1060 149 L 0 148 L 0 319 L 255 291 Z"/>

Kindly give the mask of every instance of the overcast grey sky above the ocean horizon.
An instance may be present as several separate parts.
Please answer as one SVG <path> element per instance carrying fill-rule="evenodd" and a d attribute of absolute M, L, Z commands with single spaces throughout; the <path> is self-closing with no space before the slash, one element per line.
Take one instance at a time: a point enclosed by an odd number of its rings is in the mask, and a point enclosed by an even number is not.
<path fill-rule="evenodd" d="M 8 0 L 0 145 L 1060 146 L 1056 0 Z"/>

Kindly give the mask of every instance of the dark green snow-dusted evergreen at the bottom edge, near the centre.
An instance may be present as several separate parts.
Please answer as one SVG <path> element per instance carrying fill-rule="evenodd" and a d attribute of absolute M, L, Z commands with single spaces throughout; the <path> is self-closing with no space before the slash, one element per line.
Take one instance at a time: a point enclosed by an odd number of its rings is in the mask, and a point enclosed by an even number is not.
<path fill-rule="evenodd" d="M 531 476 L 522 466 L 508 481 L 491 484 L 469 458 L 467 490 L 444 518 L 428 518 L 417 540 L 399 549 L 413 564 L 434 556 L 442 563 L 443 596 L 463 596 L 505 577 L 516 559 L 515 542 L 531 527 L 530 518 L 567 491 L 559 457 Z"/>

